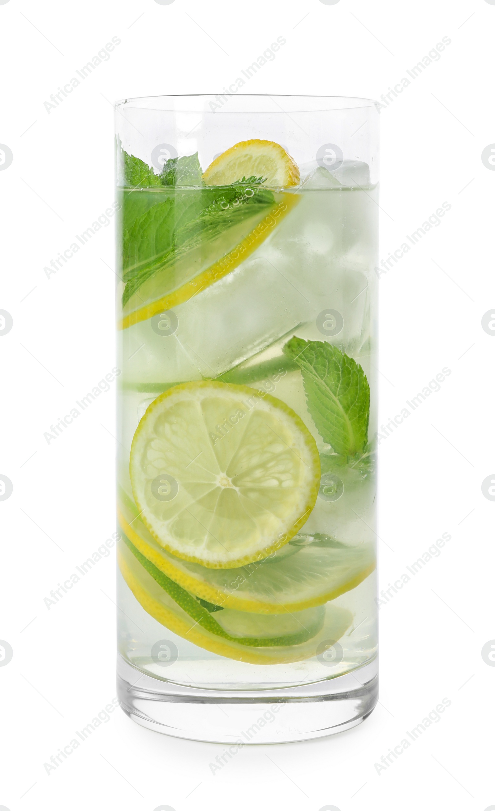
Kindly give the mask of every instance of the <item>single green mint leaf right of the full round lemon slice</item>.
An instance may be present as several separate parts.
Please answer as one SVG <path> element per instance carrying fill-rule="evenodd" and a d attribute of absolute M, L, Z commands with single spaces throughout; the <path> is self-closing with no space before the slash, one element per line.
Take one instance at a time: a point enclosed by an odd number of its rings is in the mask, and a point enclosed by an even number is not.
<path fill-rule="evenodd" d="M 369 385 L 365 372 L 336 346 L 293 337 L 284 354 L 301 369 L 309 414 L 322 439 L 344 457 L 368 442 Z"/>

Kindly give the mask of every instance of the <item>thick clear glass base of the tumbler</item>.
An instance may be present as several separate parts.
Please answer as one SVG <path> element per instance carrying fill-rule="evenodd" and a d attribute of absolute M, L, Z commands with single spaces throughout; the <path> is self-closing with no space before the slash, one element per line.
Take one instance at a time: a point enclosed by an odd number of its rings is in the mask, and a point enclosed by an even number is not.
<path fill-rule="evenodd" d="M 230 749 L 235 751 L 224 753 L 232 757 L 246 744 L 310 740 L 356 727 L 378 701 L 378 661 L 313 684 L 215 690 L 154 679 L 118 656 L 117 696 L 122 710 L 142 727 L 176 738 L 234 744 Z"/>

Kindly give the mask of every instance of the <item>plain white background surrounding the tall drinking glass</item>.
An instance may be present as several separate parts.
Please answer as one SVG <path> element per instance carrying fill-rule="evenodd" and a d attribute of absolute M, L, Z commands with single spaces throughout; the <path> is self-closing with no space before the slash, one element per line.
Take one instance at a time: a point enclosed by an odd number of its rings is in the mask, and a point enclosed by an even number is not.
<path fill-rule="evenodd" d="M 0 171 L 0 805 L 21 809 L 495 808 L 493 457 L 495 5 L 485 0 L 2 0 Z M 112 36 L 111 58 L 49 113 L 44 102 Z M 380 278 L 382 423 L 443 367 L 450 376 L 386 440 L 381 582 L 442 533 L 433 558 L 382 606 L 380 703 L 360 727 L 242 749 L 160 736 L 116 710 L 46 774 L 44 763 L 115 696 L 109 556 L 50 610 L 44 599 L 113 532 L 114 384 L 62 436 L 44 432 L 115 365 L 113 223 L 57 274 L 44 267 L 113 202 L 113 109 L 122 97 L 218 92 L 277 36 L 287 44 L 247 92 L 380 99 L 442 37 L 451 44 L 382 109 L 381 258 L 444 201 L 451 209 Z M 1 167 L 0 167 L 1 168 Z M 392 592 L 393 594 L 393 592 Z M 451 706 L 378 773 L 430 710 Z"/>

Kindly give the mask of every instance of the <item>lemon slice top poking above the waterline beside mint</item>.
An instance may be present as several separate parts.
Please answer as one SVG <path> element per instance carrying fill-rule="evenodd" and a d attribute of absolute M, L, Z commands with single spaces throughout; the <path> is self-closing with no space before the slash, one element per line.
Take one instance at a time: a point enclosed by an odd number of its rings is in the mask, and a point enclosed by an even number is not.
<path fill-rule="evenodd" d="M 299 169 L 275 141 L 240 141 L 215 158 L 203 174 L 208 186 L 227 186 L 242 178 L 263 178 L 266 186 L 297 186 Z"/>

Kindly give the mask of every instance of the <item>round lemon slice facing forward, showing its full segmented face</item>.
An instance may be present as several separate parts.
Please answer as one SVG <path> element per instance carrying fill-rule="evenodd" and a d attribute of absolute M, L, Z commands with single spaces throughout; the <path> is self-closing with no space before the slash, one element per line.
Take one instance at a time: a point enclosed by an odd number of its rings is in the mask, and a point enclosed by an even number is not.
<path fill-rule="evenodd" d="M 313 436 L 248 386 L 186 383 L 148 406 L 130 450 L 143 523 L 184 560 L 231 569 L 284 546 L 318 496 Z"/>

